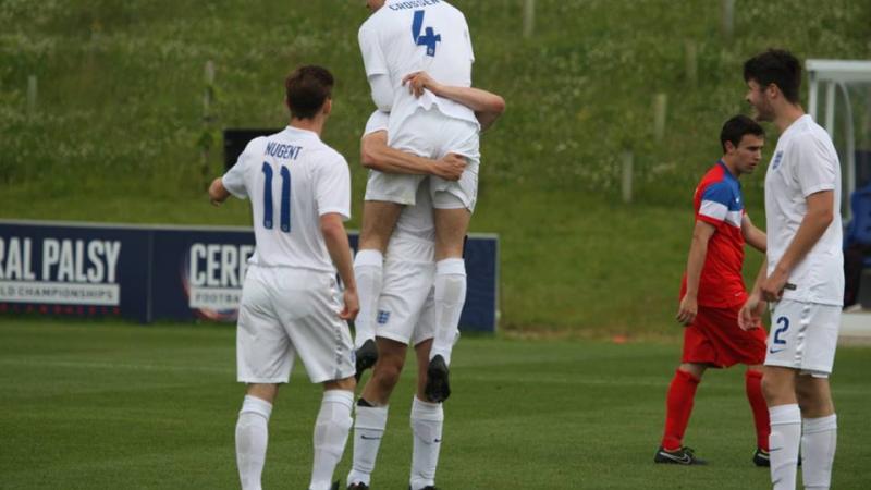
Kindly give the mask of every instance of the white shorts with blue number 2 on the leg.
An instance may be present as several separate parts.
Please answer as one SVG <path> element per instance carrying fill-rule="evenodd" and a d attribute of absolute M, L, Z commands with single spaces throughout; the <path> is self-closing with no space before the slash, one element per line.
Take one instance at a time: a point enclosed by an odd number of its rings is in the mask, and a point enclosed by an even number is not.
<path fill-rule="evenodd" d="M 765 366 L 827 378 L 835 363 L 841 307 L 782 299 L 771 313 Z"/>

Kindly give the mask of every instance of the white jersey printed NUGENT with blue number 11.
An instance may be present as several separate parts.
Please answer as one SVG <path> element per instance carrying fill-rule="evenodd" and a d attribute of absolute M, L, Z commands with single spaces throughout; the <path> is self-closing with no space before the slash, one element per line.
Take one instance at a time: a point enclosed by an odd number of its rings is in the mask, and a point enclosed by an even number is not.
<path fill-rule="evenodd" d="M 257 246 L 249 264 L 335 272 L 320 217 L 351 218 L 351 173 L 316 133 L 287 126 L 252 139 L 222 180 L 231 194 L 252 200 Z"/>

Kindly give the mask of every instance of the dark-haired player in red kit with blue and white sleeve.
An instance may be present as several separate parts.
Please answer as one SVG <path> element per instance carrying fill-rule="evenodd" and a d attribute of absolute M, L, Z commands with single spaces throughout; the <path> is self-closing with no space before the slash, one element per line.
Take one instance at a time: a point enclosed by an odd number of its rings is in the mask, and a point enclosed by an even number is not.
<path fill-rule="evenodd" d="M 683 445 L 696 388 L 709 367 L 747 365 L 747 399 L 753 413 L 757 451 L 753 462 L 768 466 L 769 415 L 762 396 L 765 331 L 738 326 L 747 299 L 741 277 L 744 244 L 765 252 L 765 233 L 753 226 L 744 209 L 738 177 L 751 173 L 762 157 L 764 131 L 753 120 L 736 115 L 723 125 L 723 158 L 701 179 L 694 206 L 696 226 L 680 287 L 677 320 L 683 323 L 684 353 L 666 399 L 665 431 L 655 463 L 704 464 Z"/>

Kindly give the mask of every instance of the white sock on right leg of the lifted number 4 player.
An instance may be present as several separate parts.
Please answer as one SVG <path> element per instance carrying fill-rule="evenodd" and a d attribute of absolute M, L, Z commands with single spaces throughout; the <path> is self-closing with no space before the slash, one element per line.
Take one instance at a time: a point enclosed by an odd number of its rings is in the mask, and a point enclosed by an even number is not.
<path fill-rule="evenodd" d="M 459 315 L 466 304 L 466 262 L 449 258 L 436 262 L 436 338 L 429 358 L 437 355 L 450 366 L 451 352 L 459 339 Z"/>

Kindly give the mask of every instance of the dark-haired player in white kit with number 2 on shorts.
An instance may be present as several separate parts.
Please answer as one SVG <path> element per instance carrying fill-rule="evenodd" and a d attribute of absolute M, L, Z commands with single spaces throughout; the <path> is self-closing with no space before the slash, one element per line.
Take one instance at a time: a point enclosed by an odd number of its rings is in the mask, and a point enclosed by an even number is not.
<path fill-rule="evenodd" d="M 827 489 L 837 440 L 829 388 L 844 298 L 841 163 L 832 138 L 799 105 L 801 65 L 769 50 L 744 65 L 756 118 L 781 132 L 765 173 L 768 253 L 741 309 L 743 328 L 771 304 L 762 391 L 771 418 L 771 479 L 795 489 L 801 446 L 805 488 Z"/>

